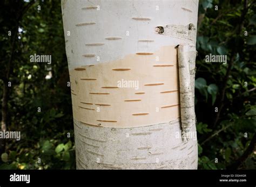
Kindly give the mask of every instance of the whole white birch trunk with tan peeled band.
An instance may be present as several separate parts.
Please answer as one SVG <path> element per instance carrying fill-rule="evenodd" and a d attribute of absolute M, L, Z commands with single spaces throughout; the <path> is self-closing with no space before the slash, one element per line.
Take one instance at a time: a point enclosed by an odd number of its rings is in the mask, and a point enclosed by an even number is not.
<path fill-rule="evenodd" d="M 62 13 L 77 169 L 197 169 L 198 1 L 62 0 Z"/>

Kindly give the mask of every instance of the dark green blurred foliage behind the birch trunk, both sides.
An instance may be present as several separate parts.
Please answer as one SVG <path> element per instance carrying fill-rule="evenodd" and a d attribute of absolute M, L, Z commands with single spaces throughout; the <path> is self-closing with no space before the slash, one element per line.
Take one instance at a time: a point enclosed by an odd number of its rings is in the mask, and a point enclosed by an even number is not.
<path fill-rule="evenodd" d="M 255 8 L 249 0 L 199 3 L 199 169 L 255 169 Z M 22 135 L 0 141 L 0 169 L 75 169 L 60 1 L 0 1 L 0 46 L 0 117 Z M 227 64 L 206 63 L 210 53 L 227 55 Z M 31 54 L 52 63 L 31 63 Z"/>

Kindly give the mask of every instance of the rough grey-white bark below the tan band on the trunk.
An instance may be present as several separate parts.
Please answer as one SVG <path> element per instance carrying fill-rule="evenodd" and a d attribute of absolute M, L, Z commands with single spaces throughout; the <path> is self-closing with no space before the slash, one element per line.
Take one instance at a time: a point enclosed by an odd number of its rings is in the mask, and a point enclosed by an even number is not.
<path fill-rule="evenodd" d="M 75 120 L 75 134 L 77 169 L 197 169 L 197 139 L 181 139 L 180 120 L 136 128 Z"/>

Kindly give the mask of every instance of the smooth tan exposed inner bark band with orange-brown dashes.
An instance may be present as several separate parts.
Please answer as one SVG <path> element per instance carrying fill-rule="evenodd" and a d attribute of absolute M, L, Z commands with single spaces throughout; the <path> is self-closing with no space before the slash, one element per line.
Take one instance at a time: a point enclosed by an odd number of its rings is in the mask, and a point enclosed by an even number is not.
<path fill-rule="evenodd" d="M 174 47 L 70 70 L 73 117 L 85 125 L 116 128 L 149 126 L 179 118 Z M 118 84 L 125 81 L 132 81 L 127 84 L 132 88 Z"/>

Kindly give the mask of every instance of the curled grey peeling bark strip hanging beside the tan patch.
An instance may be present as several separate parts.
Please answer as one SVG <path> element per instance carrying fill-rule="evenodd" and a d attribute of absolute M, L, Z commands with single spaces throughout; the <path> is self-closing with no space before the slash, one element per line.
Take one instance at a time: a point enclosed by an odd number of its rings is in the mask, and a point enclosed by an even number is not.
<path fill-rule="evenodd" d="M 195 68 L 195 54 L 195 46 L 178 46 L 180 113 L 183 132 L 189 132 L 190 128 L 196 125 L 193 95 L 194 75 L 191 75 L 191 70 Z M 186 137 L 186 139 L 188 138 Z"/>

